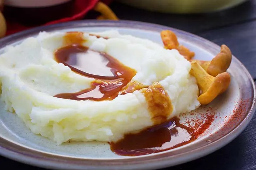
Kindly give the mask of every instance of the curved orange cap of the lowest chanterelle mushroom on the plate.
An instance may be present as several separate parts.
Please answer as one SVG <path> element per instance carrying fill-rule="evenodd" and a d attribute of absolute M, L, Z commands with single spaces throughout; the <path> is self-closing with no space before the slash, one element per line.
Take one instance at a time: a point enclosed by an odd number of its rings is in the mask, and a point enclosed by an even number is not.
<path fill-rule="evenodd" d="M 211 101 L 213 101 L 214 98 L 226 91 L 230 84 L 230 80 L 231 79 L 229 73 L 224 72 L 218 74 L 214 78 L 214 81 L 211 83 L 208 90 L 198 97 L 198 101 L 200 102 L 200 104 L 209 104 Z"/>

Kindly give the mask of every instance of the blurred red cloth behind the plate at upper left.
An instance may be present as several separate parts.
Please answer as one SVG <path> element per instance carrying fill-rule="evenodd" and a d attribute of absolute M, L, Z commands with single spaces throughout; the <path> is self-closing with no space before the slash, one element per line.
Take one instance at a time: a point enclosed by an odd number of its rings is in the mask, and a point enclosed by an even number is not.
<path fill-rule="evenodd" d="M 43 25 L 50 25 L 50 24 L 56 24 L 56 23 L 61 23 L 61 22 L 81 20 L 90 10 L 92 10 L 94 8 L 94 6 L 97 4 L 98 1 L 99 0 L 75 0 L 73 10 L 70 13 L 69 17 L 62 18 L 62 19 L 55 20 L 55 21 L 50 21 Z M 102 2 L 106 3 L 107 5 L 111 1 L 112 0 L 102 0 Z M 23 31 L 23 30 L 32 28 L 32 27 L 26 27 L 19 23 L 9 22 L 9 21 L 6 21 L 6 24 L 7 24 L 6 35 L 14 34 L 15 32 L 19 32 L 19 31 Z M 40 25 L 38 25 L 38 26 L 40 26 Z"/>

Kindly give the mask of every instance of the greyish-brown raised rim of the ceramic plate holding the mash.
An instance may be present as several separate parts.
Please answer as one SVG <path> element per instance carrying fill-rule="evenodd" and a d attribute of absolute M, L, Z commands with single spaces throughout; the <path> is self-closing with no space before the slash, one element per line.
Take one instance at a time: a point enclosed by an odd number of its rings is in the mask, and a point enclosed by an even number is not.
<path fill-rule="evenodd" d="M 190 41 L 193 40 L 196 45 L 207 49 L 210 52 L 218 52 L 220 46 L 196 35 L 177 30 L 174 28 L 166 27 L 163 25 L 135 22 L 135 21 L 96 21 L 96 20 L 84 20 L 67 22 L 43 27 L 37 27 L 27 31 L 19 32 L 17 34 L 7 36 L 0 39 L 0 48 L 5 47 L 8 44 L 12 44 L 23 38 L 30 37 L 38 34 L 39 31 L 57 31 L 59 29 L 68 28 L 83 28 L 83 27 L 116 27 L 116 28 L 134 28 L 149 31 L 161 31 L 164 29 L 170 29 L 176 32 L 177 35 L 182 36 Z M 47 154 L 38 150 L 32 150 L 25 146 L 18 145 L 18 143 L 12 143 L 5 139 L 0 138 L 0 155 L 11 158 L 13 160 L 35 165 L 38 167 L 51 168 L 51 169 L 159 169 L 169 167 L 191 160 L 195 160 L 202 156 L 212 153 L 213 151 L 225 146 L 238 136 L 244 128 L 248 125 L 255 112 L 255 83 L 247 69 L 243 64 L 233 56 L 231 66 L 233 69 L 239 69 L 240 72 L 235 72 L 234 77 L 243 77 L 244 85 L 240 89 L 240 95 L 242 99 L 248 99 L 248 106 L 246 114 L 241 120 L 238 120 L 236 124 L 231 128 L 226 128 L 223 133 L 210 135 L 204 141 L 200 141 L 195 145 L 189 147 L 182 147 L 180 149 L 174 149 L 164 151 L 157 154 L 137 156 L 137 157 L 125 157 L 125 158 L 112 158 L 112 159 L 81 159 L 69 156 Z M 231 69 L 232 69 L 231 68 Z M 241 84 L 240 84 L 241 85 Z M 249 96 L 249 97 L 248 97 Z M 211 142 L 205 142 L 210 140 Z"/>

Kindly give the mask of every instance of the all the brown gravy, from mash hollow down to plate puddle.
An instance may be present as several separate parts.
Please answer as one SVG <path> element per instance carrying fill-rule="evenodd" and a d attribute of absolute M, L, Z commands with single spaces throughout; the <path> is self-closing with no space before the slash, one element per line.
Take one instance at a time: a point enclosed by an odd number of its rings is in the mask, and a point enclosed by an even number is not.
<path fill-rule="evenodd" d="M 196 139 L 193 129 L 180 124 L 178 118 L 167 121 L 173 108 L 160 83 L 145 86 L 132 82 L 131 79 L 136 74 L 134 69 L 106 53 L 89 50 L 82 45 L 85 41 L 82 32 L 67 32 L 63 47 L 55 51 L 55 60 L 80 75 L 96 80 L 91 83 L 90 88 L 77 93 L 58 94 L 55 97 L 102 101 L 141 90 L 155 124 L 139 133 L 126 134 L 123 139 L 110 143 L 114 153 L 127 156 L 151 154 L 176 148 Z"/>

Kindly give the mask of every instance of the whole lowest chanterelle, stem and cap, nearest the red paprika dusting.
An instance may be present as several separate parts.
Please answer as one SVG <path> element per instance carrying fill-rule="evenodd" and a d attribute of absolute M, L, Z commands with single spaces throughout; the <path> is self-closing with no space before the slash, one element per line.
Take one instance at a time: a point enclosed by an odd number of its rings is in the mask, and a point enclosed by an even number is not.
<path fill-rule="evenodd" d="M 227 90 L 230 84 L 230 75 L 227 72 L 216 77 L 209 75 L 196 61 L 191 62 L 190 74 L 196 78 L 200 89 L 198 101 L 205 105 L 213 101 L 219 94 Z"/>

